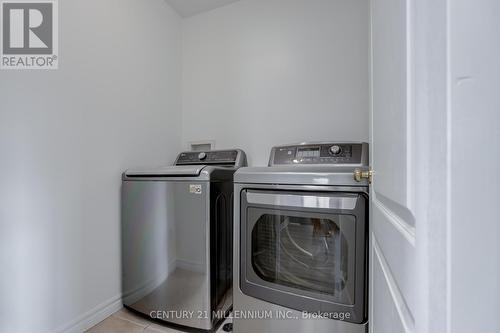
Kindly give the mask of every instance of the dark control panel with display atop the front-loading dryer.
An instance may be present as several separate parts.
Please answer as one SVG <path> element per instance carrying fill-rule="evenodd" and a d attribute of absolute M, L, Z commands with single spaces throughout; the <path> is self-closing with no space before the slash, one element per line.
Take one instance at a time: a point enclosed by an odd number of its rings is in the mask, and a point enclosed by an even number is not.
<path fill-rule="evenodd" d="M 366 143 L 319 143 L 274 147 L 269 166 L 289 164 L 364 165 L 368 163 Z"/>

